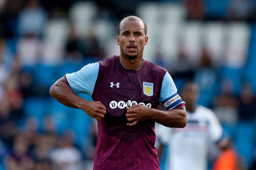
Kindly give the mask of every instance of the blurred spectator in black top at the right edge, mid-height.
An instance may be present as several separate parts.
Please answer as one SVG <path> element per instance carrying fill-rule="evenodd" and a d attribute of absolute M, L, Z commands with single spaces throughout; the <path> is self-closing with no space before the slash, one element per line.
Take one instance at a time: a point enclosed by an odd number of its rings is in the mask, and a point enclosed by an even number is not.
<path fill-rule="evenodd" d="M 252 87 L 249 83 L 242 85 L 238 115 L 239 121 L 253 122 L 256 117 L 256 100 L 253 95 Z"/>

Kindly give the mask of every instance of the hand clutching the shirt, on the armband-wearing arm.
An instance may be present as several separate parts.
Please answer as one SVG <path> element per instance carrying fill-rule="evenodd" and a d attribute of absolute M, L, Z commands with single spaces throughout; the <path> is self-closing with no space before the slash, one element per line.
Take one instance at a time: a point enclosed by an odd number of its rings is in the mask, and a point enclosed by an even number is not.
<path fill-rule="evenodd" d="M 137 104 L 132 107 L 127 107 L 127 112 L 125 114 L 127 120 L 132 123 L 127 123 L 128 126 L 134 126 L 139 121 L 145 121 L 150 118 L 150 108 Z"/>

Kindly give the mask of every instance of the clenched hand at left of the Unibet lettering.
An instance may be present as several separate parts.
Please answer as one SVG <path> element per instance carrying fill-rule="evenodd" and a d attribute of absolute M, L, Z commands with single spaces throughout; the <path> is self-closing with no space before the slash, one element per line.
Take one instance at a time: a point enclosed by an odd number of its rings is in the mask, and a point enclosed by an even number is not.
<path fill-rule="evenodd" d="M 104 115 L 107 113 L 106 107 L 100 101 L 86 101 L 81 104 L 80 109 L 97 120 L 103 119 Z"/>

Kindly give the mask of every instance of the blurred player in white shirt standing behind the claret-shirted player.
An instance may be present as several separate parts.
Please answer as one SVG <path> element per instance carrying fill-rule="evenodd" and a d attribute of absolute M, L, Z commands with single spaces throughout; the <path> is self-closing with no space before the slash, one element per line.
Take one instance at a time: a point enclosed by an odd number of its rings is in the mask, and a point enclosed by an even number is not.
<path fill-rule="evenodd" d="M 184 84 L 181 97 L 186 103 L 187 125 L 183 129 L 156 127 L 159 157 L 168 145 L 166 170 L 206 170 L 209 144 L 221 139 L 222 127 L 213 111 L 197 105 L 198 84 Z"/>

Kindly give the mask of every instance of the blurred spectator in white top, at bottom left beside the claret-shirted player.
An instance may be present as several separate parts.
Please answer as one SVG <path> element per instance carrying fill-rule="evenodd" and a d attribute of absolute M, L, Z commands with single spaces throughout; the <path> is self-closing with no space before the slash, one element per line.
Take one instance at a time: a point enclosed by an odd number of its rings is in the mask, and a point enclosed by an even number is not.
<path fill-rule="evenodd" d="M 50 158 L 53 162 L 53 170 L 81 170 L 82 155 L 74 147 L 74 137 L 72 131 L 65 131 L 63 137 L 58 140 L 59 146 L 54 149 Z"/>

